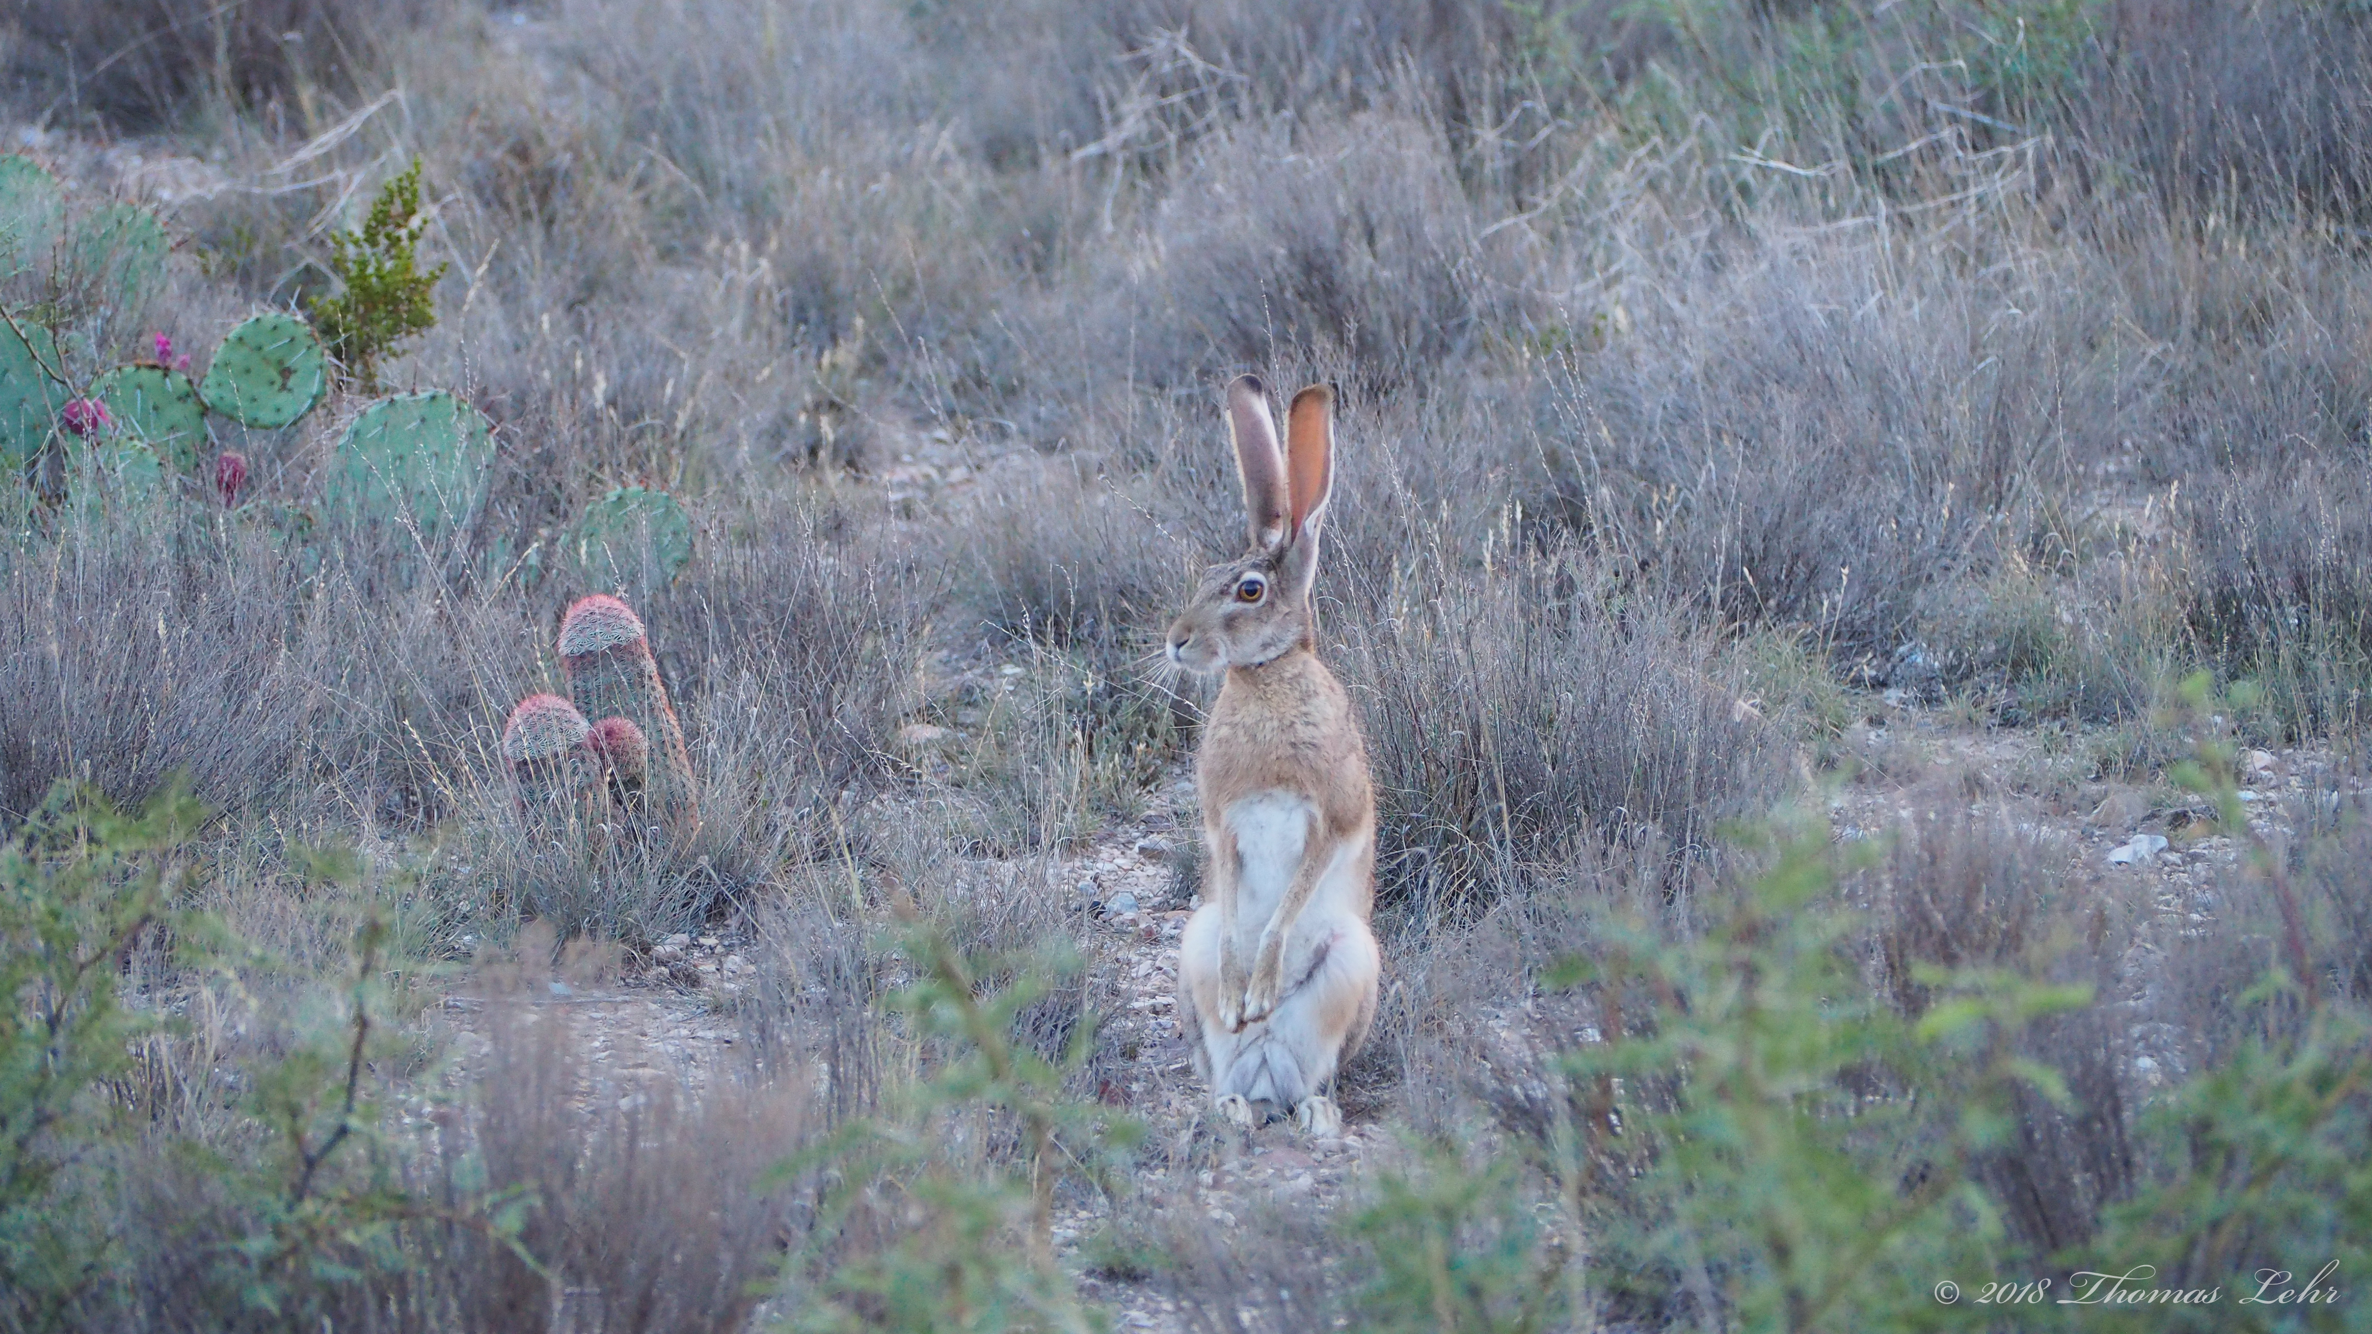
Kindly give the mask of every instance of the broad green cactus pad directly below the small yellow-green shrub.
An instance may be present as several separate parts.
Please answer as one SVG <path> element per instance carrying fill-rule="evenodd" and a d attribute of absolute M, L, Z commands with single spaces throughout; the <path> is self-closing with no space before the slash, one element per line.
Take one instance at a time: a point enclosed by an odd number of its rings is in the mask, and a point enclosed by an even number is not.
<path fill-rule="evenodd" d="M 493 423 L 448 389 L 380 399 L 337 442 L 330 508 L 410 517 L 425 536 L 467 525 L 486 498 Z"/>

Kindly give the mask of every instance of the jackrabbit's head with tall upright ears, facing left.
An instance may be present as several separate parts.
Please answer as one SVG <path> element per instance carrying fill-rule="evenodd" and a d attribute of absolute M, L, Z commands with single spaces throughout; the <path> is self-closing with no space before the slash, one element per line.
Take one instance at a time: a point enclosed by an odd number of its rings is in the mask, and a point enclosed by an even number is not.
<path fill-rule="evenodd" d="M 1169 627 L 1169 662 L 1188 672 L 1257 667 L 1316 643 L 1309 584 L 1333 487 L 1333 389 L 1312 385 L 1293 396 L 1279 449 L 1267 385 L 1241 375 L 1226 387 L 1226 430 L 1252 544 L 1241 560 L 1212 567 Z"/>

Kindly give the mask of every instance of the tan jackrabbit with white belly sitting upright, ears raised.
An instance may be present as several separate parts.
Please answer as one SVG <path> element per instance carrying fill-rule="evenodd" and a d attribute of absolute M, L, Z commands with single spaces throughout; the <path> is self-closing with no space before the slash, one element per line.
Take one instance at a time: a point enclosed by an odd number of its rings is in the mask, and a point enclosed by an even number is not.
<path fill-rule="evenodd" d="M 1333 389 L 1312 385 L 1276 449 L 1267 387 L 1226 387 L 1252 546 L 1212 570 L 1169 627 L 1169 662 L 1226 672 L 1203 722 L 1195 786 L 1205 902 L 1179 945 L 1179 1023 L 1214 1109 L 1241 1125 L 1293 1113 L 1343 1127 L 1326 1097 L 1376 1018 L 1369 930 L 1376 795 L 1350 698 L 1316 655 L 1309 584 L 1333 487 Z"/>

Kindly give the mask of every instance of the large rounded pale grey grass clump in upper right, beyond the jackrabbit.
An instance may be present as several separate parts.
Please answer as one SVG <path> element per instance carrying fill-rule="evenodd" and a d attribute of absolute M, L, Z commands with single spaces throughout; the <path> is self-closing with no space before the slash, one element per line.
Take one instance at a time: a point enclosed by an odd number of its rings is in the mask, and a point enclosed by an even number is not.
<path fill-rule="evenodd" d="M 2090 320 L 2061 328 L 2042 273 L 1985 292 L 1869 242 L 1736 259 L 1549 377 L 1551 498 L 1715 617 L 1883 662 L 2061 468 L 2045 442 L 2087 392 L 2064 356 Z"/>

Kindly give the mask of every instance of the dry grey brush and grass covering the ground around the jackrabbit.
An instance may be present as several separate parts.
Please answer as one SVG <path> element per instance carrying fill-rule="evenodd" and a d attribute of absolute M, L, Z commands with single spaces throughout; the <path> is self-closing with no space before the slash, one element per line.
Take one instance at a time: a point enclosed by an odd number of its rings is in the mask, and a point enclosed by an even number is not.
<path fill-rule="evenodd" d="M 320 503 L 344 401 L 218 427 L 249 468 L 235 513 L 12 503 L 0 828 L 52 828 L 59 781 L 128 807 L 185 774 L 211 817 L 173 883 L 218 935 L 202 966 L 154 938 L 126 954 L 180 1028 L 93 1094 L 138 1125 L 109 1149 L 128 1168 L 90 1177 L 121 1189 L 74 1203 L 126 1241 L 47 1317 L 733 1329 L 788 1253 L 773 1315 L 894 1322 L 818 1275 L 996 1227 L 965 1232 L 961 1192 L 835 1206 L 799 1151 L 942 1116 L 977 1127 L 954 1158 L 1022 1154 L 1020 1113 L 906 1101 L 946 1042 L 885 1009 L 927 964 L 882 928 L 908 909 L 991 959 L 989 985 L 1086 930 L 1046 869 L 1191 750 L 1200 686 L 1155 648 L 1238 541 L 1214 394 L 1241 370 L 1343 394 L 1319 615 L 1376 764 L 1388 938 L 1352 1109 L 1511 1146 L 1520 1168 L 1492 1170 L 1520 1189 L 1452 1154 L 1354 1227 L 1286 1211 L 1229 1237 L 1112 1203 L 1115 1253 L 1174 1258 L 1098 1272 L 1191 1325 L 1390 1327 L 1416 1241 L 1499 1256 L 1454 1317 L 1423 1308 L 1461 1329 L 1520 1327 L 1547 1310 L 1511 1296 L 1532 1289 L 1620 1327 L 1739 1320 L 1720 1291 L 1767 1265 L 1727 1234 L 1675 1249 L 1686 1201 L 1622 1184 L 1660 1158 L 1584 1135 L 1613 1085 L 1575 1071 L 1608 1014 L 1656 1006 L 1611 978 L 1722 940 L 1791 864 L 1755 831 L 1855 783 L 1907 812 L 1872 857 L 1838 852 L 1819 900 L 1860 914 L 1831 945 L 1874 1006 L 1912 1025 L 1974 971 L 2087 987 L 1983 1056 L 2057 1082 L 2000 1094 L 1978 1056 L 1831 1071 L 1886 1106 L 2007 1099 L 1952 1158 L 1995 1201 L 1969 1232 L 1995 1258 L 2144 1234 L 2159 1215 L 2132 1201 L 2213 1175 L 2144 1104 L 2268 1035 L 2322 1042 L 2372 990 L 2372 824 L 2346 795 L 2372 688 L 2353 7 L 83 0 L 0 17 L 0 74 L 76 190 L 128 152 L 171 166 L 126 180 L 176 183 L 147 323 L 180 342 L 318 294 L 327 230 L 417 157 L 422 259 L 451 268 L 436 328 L 380 377 L 451 385 L 498 425 L 484 503 L 432 536 Z M 128 356 L 147 325 L 104 337 Z M 562 548 L 629 484 L 695 529 L 636 610 L 700 826 L 546 838 L 512 812 L 498 731 L 565 688 L 562 610 L 605 589 Z M 2185 703 L 2192 672 L 2227 693 Z M 2057 769 L 1888 769 L 1862 724 L 1902 705 Z M 899 741 L 918 722 L 944 745 Z M 2204 926 L 2052 833 L 2087 783 L 2170 793 L 2225 743 L 2322 769 L 2261 862 L 2206 874 Z M 2206 798 L 2168 802 L 2206 828 Z M 332 845 L 353 874 L 318 874 Z M 370 1004 L 413 1016 L 458 985 L 439 968 L 491 976 L 527 921 L 636 959 L 719 926 L 759 940 L 731 1092 L 562 1113 L 579 1056 L 493 990 L 477 1061 L 446 1066 L 434 1025 L 370 1035 L 361 1082 L 439 1127 L 342 1168 L 370 1227 L 209 1177 L 270 1177 L 251 1071 L 339 1052 L 323 1016 L 365 1004 L 337 1004 L 361 928 L 403 959 Z M 1592 980 L 1551 985 L 1575 957 Z M 2275 968 L 2303 999 L 2258 987 Z M 1018 1049 L 1060 1066 L 1103 987 L 1056 973 L 1010 1016 Z M 1122 1061 L 1075 1056 L 1089 1094 Z M 342 1068 L 292 1125 L 334 1120 Z M 1637 1090 L 1651 1120 L 1691 1106 L 1682 1075 Z M 2360 1090 L 2332 1097 L 2363 1120 Z M 1952 1135 L 1905 1130 L 1907 1199 Z M 1599 1284 L 1494 1192 L 1561 1201 L 1630 1279 Z M 225 1268 L 128 1222 L 157 1218 L 287 1251 Z M 1350 1263 L 1283 1268 L 1326 1251 Z M 586 1296 L 586 1275 L 610 1279 Z"/>

